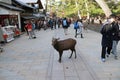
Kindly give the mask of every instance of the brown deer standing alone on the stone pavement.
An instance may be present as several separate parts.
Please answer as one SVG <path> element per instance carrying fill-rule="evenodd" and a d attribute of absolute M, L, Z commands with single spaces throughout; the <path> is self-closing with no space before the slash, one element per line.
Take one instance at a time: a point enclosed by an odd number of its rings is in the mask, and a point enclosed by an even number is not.
<path fill-rule="evenodd" d="M 76 50 L 75 50 L 75 45 L 76 45 L 76 40 L 75 39 L 69 38 L 69 39 L 60 40 L 60 41 L 58 41 L 58 40 L 59 39 L 53 38 L 52 39 L 52 45 L 59 52 L 59 62 L 61 62 L 61 57 L 62 57 L 62 54 L 63 54 L 64 50 L 69 50 L 70 49 L 72 51 L 69 58 L 72 57 L 73 51 L 75 53 L 75 58 L 77 57 L 76 56 Z"/>

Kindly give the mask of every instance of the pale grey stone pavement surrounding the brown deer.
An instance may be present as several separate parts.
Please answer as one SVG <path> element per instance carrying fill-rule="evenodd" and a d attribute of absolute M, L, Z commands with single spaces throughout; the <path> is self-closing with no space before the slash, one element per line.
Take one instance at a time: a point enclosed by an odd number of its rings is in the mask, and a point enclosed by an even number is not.
<path fill-rule="evenodd" d="M 77 59 L 71 59 L 70 51 L 64 51 L 62 63 L 52 47 L 52 37 L 74 38 L 74 29 L 64 35 L 63 29 L 36 31 L 36 39 L 26 34 L 7 43 L 0 54 L 0 80 L 120 80 L 120 56 L 111 54 L 101 62 L 101 34 L 84 31 L 84 38 L 77 40 Z M 120 43 L 118 44 L 120 53 Z"/>

